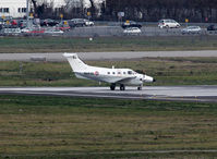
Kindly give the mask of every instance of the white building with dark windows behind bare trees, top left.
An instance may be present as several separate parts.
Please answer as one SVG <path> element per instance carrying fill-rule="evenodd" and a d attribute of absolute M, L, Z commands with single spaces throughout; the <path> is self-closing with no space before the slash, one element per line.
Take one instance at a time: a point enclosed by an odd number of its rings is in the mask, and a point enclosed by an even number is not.
<path fill-rule="evenodd" d="M 29 0 L 31 1 L 31 0 Z M 38 3 L 53 2 L 53 8 L 61 8 L 64 0 L 37 0 Z M 32 7 L 32 3 L 29 4 Z M 0 16 L 23 17 L 26 15 L 26 0 L 0 0 Z"/>

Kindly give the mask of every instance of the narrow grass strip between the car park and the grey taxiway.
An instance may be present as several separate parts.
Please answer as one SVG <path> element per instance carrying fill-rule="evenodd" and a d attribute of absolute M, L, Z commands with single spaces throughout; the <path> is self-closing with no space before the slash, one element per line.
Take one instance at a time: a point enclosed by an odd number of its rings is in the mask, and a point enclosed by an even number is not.
<path fill-rule="evenodd" d="M 216 50 L 216 36 L 159 37 L 1 37 L 0 53 L 153 50 Z"/>

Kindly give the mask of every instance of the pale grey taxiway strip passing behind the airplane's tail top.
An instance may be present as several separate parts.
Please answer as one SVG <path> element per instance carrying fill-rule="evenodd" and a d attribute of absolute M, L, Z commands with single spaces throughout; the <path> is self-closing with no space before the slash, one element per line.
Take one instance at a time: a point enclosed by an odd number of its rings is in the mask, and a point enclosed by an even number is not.
<path fill-rule="evenodd" d="M 65 61 L 63 52 L 53 53 L 0 53 L 0 61 Z M 82 60 L 120 60 L 157 57 L 217 57 L 216 50 L 198 51 L 124 51 L 124 52 L 79 52 Z"/>

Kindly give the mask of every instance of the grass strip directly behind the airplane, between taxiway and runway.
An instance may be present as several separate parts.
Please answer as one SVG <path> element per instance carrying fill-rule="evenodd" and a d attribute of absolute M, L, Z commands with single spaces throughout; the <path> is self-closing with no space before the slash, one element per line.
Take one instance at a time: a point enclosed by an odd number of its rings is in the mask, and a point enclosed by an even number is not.
<path fill-rule="evenodd" d="M 130 68 L 154 76 L 147 85 L 216 85 L 217 58 L 145 58 L 126 61 L 86 61 L 91 65 Z M 103 84 L 105 86 L 107 84 Z M 1 62 L 0 86 L 98 86 L 79 80 L 68 62 Z"/>

